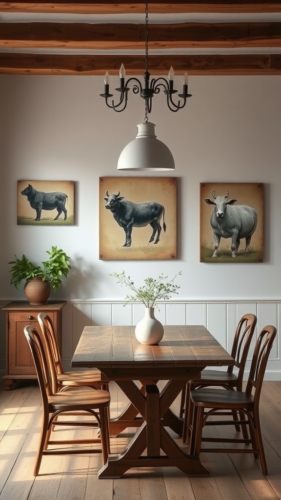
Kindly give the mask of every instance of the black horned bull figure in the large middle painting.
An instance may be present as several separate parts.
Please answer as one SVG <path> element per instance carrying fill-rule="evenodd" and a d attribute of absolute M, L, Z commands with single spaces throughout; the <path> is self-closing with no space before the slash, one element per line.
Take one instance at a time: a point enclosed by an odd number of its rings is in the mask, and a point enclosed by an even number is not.
<path fill-rule="evenodd" d="M 163 229 L 166 230 L 164 221 L 165 208 L 157 201 L 144 201 L 143 203 L 133 203 L 124 199 L 124 196 L 118 194 L 108 194 L 106 191 L 105 208 L 112 212 L 114 220 L 119 226 L 123 227 L 126 235 L 126 240 L 123 246 L 131 245 L 131 231 L 133 227 L 144 227 L 148 224 L 152 227 L 152 234 L 149 243 L 154 240 L 157 231 L 157 236 L 154 241 L 158 243 L 161 225 L 160 220 L 163 217 Z"/>

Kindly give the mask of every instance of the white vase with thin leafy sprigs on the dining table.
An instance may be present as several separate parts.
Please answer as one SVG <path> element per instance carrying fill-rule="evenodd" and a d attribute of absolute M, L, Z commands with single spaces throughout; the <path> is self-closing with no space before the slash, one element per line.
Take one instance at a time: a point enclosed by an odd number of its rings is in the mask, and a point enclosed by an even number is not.
<path fill-rule="evenodd" d="M 145 345 L 155 345 L 163 337 L 163 325 L 154 316 L 154 307 L 160 299 L 170 298 L 171 293 L 178 293 L 179 286 L 174 283 L 176 276 L 181 274 L 179 271 L 174 277 L 168 281 L 167 276 L 163 273 L 159 274 L 157 278 L 147 277 L 144 284 L 136 287 L 130 276 L 126 276 L 125 272 L 113 272 L 109 276 L 117 278 L 117 283 L 121 286 L 127 286 L 133 293 L 125 296 L 126 305 L 131 300 L 137 300 L 145 305 L 144 317 L 135 326 L 135 336 L 137 340 Z"/>

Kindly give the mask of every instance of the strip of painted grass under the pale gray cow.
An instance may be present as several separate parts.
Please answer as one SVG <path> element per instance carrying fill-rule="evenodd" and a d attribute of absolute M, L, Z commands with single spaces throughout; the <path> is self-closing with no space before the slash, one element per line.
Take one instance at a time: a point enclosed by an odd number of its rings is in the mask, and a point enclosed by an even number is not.
<path fill-rule="evenodd" d="M 206 241 L 200 246 L 200 262 L 262 262 L 262 250 L 258 247 L 249 246 L 249 253 L 244 253 L 244 247 L 240 245 L 235 257 L 231 256 L 230 244 L 219 246 L 217 257 L 212 257 L 213 245 L 208 245 Z"/>

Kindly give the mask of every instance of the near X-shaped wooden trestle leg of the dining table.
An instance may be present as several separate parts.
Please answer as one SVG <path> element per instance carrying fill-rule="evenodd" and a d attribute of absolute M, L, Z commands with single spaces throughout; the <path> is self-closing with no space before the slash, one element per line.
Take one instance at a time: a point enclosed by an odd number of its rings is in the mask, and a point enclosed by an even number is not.
<path fill-rule="evenodd" d="M 175 466 L 189 475 L 209 475 L 198 456 L 187 455 L 163 427 L 161 417 L 167 413 L 167 405 L 173 401 L 182 383 L 168 383 L 167 394 L 155 384 L 146 385 L 146 397 L 132 381 L 118 381 L 137 411 L 145 418 L 127 448 L 115 457 L 109 457 L 100 469 L 99 478 L 121 477 L 131 467 Z M 142 455 L 147 449 L 146 456 Z M 165 456 L 160 454 L 160 450 Z"/>

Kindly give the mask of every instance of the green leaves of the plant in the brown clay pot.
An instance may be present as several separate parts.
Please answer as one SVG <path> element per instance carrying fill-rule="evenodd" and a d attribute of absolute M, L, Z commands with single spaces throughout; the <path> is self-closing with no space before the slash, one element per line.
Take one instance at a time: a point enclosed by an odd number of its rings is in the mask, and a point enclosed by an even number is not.
<path fill-rule="evenodd" d="M 8 262 L 11 265 L 11 281 L 18 290 L 22 280 L 28 281 L 32 278 L 41 278 L 42 281 L 49 281 L 53 291 L 57 291 L 60 287 L 62 281 L 61 277 L 67 277 L 69 269 L 69 258 L 66 253 L 52 246 L 51 250 L 46 250 L 49 255 L 48 260 L 43 261 L 40 265 L 35 265 L 23 254 L 21 258 L 17 258 L 15 255 L 15 260 Z"/>

